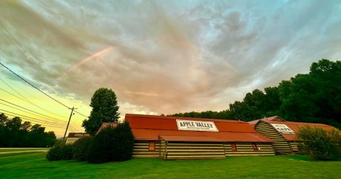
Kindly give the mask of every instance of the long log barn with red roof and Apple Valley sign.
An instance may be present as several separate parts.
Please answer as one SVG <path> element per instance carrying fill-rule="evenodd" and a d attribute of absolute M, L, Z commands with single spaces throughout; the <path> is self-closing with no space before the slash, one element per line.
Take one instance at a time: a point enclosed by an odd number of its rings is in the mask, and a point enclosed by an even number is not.
<path fill-rule="evenodd" d="M 244 121 L 126 114 L 135 158 L 202 159 L 274 155 L 273 141 Z"/>

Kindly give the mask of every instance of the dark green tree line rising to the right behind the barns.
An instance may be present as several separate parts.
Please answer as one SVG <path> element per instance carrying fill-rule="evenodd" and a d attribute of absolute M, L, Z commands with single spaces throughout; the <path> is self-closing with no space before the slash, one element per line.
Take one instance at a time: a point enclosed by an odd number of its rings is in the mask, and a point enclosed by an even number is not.
<path fill-rule="evenodd" d="M 168 116 L 251 121 L 281 116 L 288 121 L 330 124 L 341 127 L 341 61 L 319 60 L 308 74 L 283 80 L 276 87 L 248 92 L 242 102 L 221 112 L 185 112 Z"/>

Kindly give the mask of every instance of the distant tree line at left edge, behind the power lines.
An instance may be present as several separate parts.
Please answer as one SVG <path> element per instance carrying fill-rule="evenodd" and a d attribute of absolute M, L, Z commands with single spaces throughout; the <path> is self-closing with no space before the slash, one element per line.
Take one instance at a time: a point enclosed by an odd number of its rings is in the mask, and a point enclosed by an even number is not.
<path fill-rule="evenodd" d="M 55 133 L 45 132 L 40 124 L 32 125 L 15 116 L 9 119 L 0 114 L 0 147 L 50 147 L 55 143 Z"/>

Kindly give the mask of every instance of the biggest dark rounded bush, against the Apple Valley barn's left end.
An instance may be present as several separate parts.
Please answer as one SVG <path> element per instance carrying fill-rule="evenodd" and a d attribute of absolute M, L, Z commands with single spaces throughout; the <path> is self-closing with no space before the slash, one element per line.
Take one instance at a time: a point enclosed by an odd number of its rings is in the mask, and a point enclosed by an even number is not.
<path fill-rule="evenodd" d="M 104 163 L 108 161 L 126 161 L 133 154 L 134 135 L 129 123 L 118 124 L 112 128 L 108 126 L 94 136 L 94 141 L 88 150 L 90 163 Z"/>

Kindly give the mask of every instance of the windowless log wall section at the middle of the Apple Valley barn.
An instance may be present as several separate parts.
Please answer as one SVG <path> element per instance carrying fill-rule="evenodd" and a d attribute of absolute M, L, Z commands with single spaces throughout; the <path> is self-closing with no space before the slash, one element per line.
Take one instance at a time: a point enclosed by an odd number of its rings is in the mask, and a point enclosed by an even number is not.
<path fill-rule="evenodd" d="M 165 145 L 166 160 L 225 158 L 223 143 L 167 141 Z"/>

